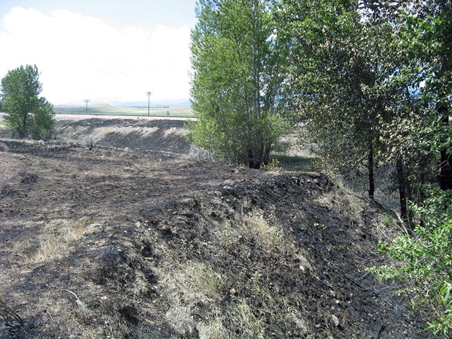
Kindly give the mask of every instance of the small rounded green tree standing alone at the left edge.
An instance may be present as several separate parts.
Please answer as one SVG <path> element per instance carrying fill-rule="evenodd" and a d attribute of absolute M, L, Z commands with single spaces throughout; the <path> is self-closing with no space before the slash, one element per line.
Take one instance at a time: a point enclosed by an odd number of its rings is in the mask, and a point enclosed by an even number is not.
<path fill-rule="evenodd" d="M 20 66 L 1 79 L 1 99 L 6 123 L 19 138 L 50 138 L 54 129 L 54 109 L 45 99 L 36 65 Z"/>

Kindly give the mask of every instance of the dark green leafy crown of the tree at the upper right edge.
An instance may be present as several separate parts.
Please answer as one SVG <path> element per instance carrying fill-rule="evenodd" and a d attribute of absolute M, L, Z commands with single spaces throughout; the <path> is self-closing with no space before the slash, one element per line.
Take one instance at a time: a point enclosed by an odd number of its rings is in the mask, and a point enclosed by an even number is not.
<path fill-rule="evenodd" d="M 440 152 L 452 151 L 452 3 L 415 0 L 396 7 L 382 7 L 397 47 L 397 67 L 385 88 L 397 104 L 387 107 L 389 118 L 380 119 L 381 155 L 392 161 L 402 157 L 416 186 L 436 181 L 444 167 L 438 166 L 444 161 Z"/>

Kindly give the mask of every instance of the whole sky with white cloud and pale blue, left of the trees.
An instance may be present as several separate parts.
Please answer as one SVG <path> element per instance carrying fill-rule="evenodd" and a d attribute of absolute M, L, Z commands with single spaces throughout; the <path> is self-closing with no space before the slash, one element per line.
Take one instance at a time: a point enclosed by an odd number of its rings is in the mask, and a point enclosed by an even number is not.
<path fill-rule="evenodd" d="M 188 100 L 195 0 L 0 0 L 0 78 L 36 65 L 52 104 Z"/>

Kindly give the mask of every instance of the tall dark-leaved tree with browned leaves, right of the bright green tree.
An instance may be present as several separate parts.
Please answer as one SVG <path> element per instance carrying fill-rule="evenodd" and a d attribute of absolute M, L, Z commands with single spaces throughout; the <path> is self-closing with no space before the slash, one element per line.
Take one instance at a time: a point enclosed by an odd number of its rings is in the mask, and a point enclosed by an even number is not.
<path fill-rule="evenodd" d="M 387 101 L 381 84 L 393 72 L 382 65 L 389 26 L 373 26 L 353 0 L 286 0 L 280 6 L 300 119 L 325 165 L 341 172 L 366 168 L 373 198 L 378 117 L 386 115 Z"/>

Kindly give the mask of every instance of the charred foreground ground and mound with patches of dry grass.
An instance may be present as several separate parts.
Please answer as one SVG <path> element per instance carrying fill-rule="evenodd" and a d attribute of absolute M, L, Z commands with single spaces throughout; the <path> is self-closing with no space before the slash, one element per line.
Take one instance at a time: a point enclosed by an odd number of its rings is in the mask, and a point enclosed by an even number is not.
<path fill-rule="evenodd" d="M 322 174 L 6 140 L 0 160 L 0 290 L 25 324 L 0 338 L 426 337 L 364 270 L 380 208 Z"/>

